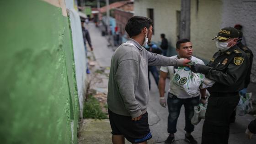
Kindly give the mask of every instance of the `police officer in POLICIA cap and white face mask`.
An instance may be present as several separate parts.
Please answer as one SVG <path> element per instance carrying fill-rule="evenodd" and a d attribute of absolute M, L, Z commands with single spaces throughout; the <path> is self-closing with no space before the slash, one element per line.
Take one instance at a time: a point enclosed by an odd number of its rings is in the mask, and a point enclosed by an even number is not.
<path fill-rule="evenodd" d="M 203 123 L 202 144 L 228 144 L 229 121 L 239 102 L 239 91 L 244 88 L 249 66 L 246 54 L 236 45 L 239 32 L 233 27 L 224 27 L 216 37 L 219 49 L 205 65 L 192 65 L 191 70 L 215 80 L 208 88 L 211 96 Z"/>

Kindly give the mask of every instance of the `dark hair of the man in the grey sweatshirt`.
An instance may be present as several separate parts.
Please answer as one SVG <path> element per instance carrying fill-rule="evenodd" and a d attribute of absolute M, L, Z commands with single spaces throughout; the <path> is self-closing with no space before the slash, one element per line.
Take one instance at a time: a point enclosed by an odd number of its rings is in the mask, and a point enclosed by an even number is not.
<path fill-rule="evenodd" d="M 133 16 L 128 19 L 125 25 L 125 31 L 128 33 L 129 37 L 137 36 L 141 30 L 146 27 L 153 25 L 153 21 L 150 18 L 144 16 Z"/>

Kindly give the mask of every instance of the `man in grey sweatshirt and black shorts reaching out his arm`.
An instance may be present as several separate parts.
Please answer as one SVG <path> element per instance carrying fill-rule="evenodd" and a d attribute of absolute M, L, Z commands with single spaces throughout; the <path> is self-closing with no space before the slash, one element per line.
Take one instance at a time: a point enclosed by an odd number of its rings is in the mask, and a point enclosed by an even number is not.
<path fill-rule="evenodd" d="M 151 139 L 147 106 L 149 103 L 148 66 L 188 66 L 188 59 L 174 59 L 142 48 L 150 43 L 153 21 L 131 17 L 125 30 L 129 35 L 111 59 L 107 104 L 112 128 L 112 143 L 146 144 Z"/>

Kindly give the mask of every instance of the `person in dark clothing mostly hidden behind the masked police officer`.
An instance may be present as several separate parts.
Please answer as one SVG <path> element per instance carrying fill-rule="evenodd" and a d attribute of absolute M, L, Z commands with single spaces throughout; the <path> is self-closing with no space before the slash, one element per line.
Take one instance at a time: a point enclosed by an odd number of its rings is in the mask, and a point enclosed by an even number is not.
<path fill-rule="evenodd" d="M 246 89 L 251 81 L 251 65 L 252 65 L 252 60 L 253 60 L 253 53 L 251 52 L 251 49 L 247 48 L 243 43 L 242 43 L 242 39 L 243 39 L 243 32 L 238 30 L 239 32 L 239 37 L 238 37 L 238 41 L 237 41 L 237 46 L 246 53 L 247 58 L 249 59 L 249 68 L 247 70 L 247 74 L 245 76 L 245 88 L 242 89 L 240 92 L 240 95 L 245 96 L 246 94 Z M 230 118 L 230 123 L 235 123 L 235 115 L 236 112 L 234 111 L 231 115 Z"/>

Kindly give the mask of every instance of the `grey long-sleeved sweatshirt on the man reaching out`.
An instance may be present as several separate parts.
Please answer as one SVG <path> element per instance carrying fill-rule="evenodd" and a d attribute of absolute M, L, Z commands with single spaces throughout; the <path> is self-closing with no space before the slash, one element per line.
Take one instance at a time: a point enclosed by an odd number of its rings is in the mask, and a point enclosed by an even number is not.
<path fill-rule="evenodd" d="M 129 38 L 111 59 L 107 105 L 119 115 L 139 117 L 149 103 L 148 66 L 181 66 L 182 59 L 150 53 Z"/>

